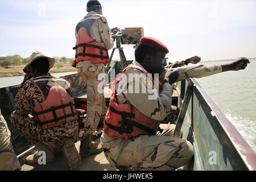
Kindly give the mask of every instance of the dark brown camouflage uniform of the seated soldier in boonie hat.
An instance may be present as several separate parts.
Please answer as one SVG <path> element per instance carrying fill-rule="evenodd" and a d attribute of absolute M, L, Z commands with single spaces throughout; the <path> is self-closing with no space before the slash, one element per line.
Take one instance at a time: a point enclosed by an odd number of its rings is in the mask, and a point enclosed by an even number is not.
<path fill-rule="evenodd" d="M 69 94 L 72 96 L 71 90 Z M 31 80 L 24 82 L 15 97 L 16 111 L 11 116 L 11 121 L 16 128 L 34 144 L 41 141 L 53 151 L 58 151 L 68 138 L 77 142 L 79 131 L 77 121 L 63 123 L 45 130 L 40 128 L 32 117 L 32 108 L 42 102 L 42 94 L 34 82 Z"/>

